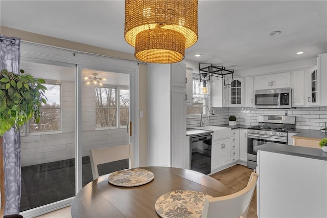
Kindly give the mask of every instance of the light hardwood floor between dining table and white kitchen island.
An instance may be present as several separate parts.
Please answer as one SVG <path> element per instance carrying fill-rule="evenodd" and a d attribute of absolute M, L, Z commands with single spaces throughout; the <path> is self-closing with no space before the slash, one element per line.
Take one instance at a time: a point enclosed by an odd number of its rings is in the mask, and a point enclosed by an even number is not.
<path fill-rule="evenodd" d="M 235 165 L 220 172 L 216 172 L 211 175 L 211 177 L 222 182 L 228 187 L 231 193 L 235 193 L 246 187 L 250 179 L 251 172 L 253 172 L 253 170 L 247 168 L 246 166 Z M 256 188 L 254 190 L 247 217 L 258 218 L 258 215 L 256 214 Z"/>

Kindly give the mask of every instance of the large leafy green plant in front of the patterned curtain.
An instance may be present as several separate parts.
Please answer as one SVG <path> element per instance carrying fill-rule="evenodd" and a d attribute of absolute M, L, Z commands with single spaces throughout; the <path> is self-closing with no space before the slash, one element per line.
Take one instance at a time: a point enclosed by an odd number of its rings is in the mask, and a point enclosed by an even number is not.
<path fill-rule="evenodd" d="M 8 70 L 0 72 L 0 187 L 1 209 L 5 204 L 3 136 L 6 132 L 19 135 L 19 130 L 31 118 L 40 121 L 41 105 L 46 103 L 42 85 L 44 79 L 36 79 L 30 74 L 15 74 Z M 15 143 L 15 142 L 9 142 Z M 20 181 L 18 181 L 20 183 Z M 1 210 L 3 213 L 3 210 Z M 3 215 L 3 214 L 0 214 Z"/>

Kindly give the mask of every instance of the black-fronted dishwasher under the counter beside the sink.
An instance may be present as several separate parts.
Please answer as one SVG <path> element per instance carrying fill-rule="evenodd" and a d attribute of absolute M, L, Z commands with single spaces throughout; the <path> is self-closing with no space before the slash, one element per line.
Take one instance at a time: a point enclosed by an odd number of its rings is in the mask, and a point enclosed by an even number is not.
<path fill-rule="evenodd" d="M 190 136 L 190 169 L 208 175 L 211 172 L 212 135 Z"/>

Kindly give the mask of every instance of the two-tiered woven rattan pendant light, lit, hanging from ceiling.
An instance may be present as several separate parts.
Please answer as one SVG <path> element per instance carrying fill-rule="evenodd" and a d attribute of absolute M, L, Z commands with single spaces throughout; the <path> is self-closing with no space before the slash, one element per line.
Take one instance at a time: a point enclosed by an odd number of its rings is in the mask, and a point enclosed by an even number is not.
<path fill-rule="evenodd" d="M 125 0 L 125 40 L 148 63 L 175 63 L 198 40 L 198 0 Z"/>

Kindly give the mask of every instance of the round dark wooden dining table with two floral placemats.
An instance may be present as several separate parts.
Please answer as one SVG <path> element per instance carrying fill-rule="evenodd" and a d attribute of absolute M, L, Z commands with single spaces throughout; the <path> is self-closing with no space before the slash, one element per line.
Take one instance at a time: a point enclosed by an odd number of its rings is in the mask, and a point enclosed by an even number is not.
<path fill-rule="evenodd" d="M 220 197 L 230 194 L 218 180 L 188 169 L 140 167 L 154 173 L 154 179 L 137 187 L 119 187 L 108 175 L 85 185 L 72 202 L 72 217 L 158 217 L 155 202 L 174 190 L 193 190 Z"/>

